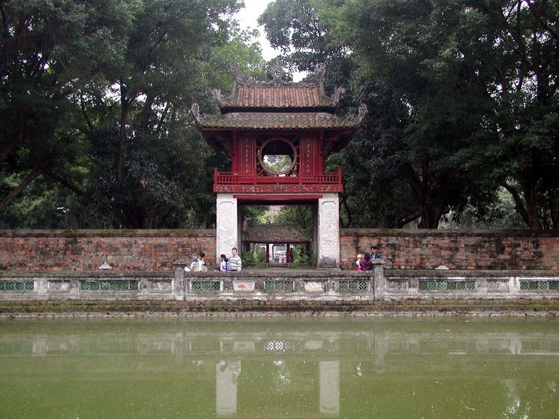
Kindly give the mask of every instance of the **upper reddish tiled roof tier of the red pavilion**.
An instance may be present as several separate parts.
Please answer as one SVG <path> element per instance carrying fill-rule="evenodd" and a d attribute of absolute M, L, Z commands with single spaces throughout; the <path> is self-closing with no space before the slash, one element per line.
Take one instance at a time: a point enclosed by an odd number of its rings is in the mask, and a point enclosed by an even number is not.
<path fill-rule="evenodd" d="M 331 98 L 314 86 L 238 86 L 227 105 L 234 108 L 321 108 L 333 107 Z"/>

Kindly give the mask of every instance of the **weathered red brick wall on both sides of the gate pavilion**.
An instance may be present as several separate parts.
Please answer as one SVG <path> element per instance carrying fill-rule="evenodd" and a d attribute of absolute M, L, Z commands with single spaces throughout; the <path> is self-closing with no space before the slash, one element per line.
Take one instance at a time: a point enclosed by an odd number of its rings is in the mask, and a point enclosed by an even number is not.
<path fill-rule="evenodd" d="M 559 232 L 530 230 L 340 230 L 340 257 L 380 244 L 389 267 L 559 270 Z M 171 270 L 203 250 L 215 262 L 215 230 L 0 230 L 0 270 Z"/>

